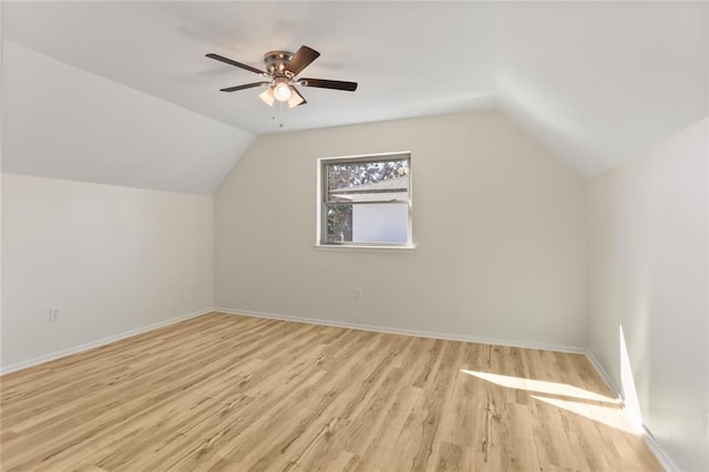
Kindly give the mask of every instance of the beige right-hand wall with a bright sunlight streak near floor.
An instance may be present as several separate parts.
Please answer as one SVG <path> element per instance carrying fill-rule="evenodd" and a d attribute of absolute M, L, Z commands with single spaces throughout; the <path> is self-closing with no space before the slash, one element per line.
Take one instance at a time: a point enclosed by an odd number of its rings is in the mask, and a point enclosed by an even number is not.
<path fill-rule="evenodd" d="M 709 470 L 708 150 L 705 119 L 588 187 L 590 350 L 687 471 Z"/>

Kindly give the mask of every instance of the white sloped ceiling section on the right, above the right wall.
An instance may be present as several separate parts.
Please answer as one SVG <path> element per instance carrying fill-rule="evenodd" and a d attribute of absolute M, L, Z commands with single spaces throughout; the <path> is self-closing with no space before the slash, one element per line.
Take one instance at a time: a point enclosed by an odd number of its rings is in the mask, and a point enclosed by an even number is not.
<path fill-rule="evenodd" d="M 709 114 L 709 3 L 505 3 L 501 107 L 586 175 Z"/>

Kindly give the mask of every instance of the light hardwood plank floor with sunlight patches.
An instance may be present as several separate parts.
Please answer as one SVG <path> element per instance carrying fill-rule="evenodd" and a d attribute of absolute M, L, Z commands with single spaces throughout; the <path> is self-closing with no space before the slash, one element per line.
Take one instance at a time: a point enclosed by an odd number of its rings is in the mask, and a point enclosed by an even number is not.
<path fill-rule="evenodd" d="M 0 381 L 3 471 L 661 470 L 580 355 L 209 314 Z"/>

